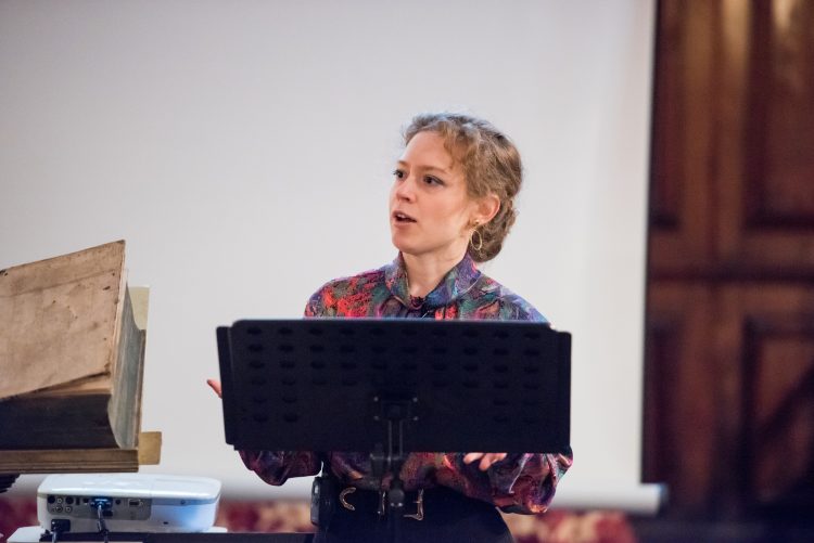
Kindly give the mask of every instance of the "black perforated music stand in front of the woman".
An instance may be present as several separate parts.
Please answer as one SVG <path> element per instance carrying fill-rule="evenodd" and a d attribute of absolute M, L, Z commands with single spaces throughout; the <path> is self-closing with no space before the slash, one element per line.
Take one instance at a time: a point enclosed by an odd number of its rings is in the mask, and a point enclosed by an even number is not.
<path fill-rule="evenodd" d="M 569 450 L 571 336 L 544 323 L 246 320 L 217 339 L 227 443 L 370 452 L 396 517 L 409 452 Z"/>

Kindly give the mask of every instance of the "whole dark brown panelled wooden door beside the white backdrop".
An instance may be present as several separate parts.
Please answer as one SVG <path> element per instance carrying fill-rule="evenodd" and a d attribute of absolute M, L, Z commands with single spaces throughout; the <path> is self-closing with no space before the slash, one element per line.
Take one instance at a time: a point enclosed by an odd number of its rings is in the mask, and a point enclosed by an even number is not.
<path fill-rule="evenodd" d="M 644 479 L 814 505 L 814 2 L 659 3 Z"/>

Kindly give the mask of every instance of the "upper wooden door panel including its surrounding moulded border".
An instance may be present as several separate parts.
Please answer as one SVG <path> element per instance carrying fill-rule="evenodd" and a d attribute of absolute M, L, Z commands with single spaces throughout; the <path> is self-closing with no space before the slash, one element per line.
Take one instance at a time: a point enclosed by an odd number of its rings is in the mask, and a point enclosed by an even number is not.
<path fill-rule="evenodd" d="M 716 5 L 715 269 L 813 277 L 812 4 Z"/>

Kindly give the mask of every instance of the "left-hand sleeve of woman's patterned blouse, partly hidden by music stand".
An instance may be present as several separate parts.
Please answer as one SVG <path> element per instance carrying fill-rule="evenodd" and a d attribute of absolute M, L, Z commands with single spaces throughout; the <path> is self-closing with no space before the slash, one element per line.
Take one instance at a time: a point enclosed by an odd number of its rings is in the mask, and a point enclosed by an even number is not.
<path fill-rule="evenodd" d="M 326 288 L 308 299 L 305 316 L 327 316 Z M 290 477 L 317 475 L 321 461 L 313 451 L 239 451 L 243 464 L 269 484 L 280 486 Z"/>

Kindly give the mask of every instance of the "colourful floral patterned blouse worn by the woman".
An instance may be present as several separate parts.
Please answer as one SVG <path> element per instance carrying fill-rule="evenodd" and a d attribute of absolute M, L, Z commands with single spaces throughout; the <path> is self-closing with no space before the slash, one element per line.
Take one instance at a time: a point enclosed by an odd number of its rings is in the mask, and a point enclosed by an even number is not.
<path fill-rule="evenodd" d="M 317 290 L 306 316 L 407 319 L 497 319 L 546 322 L 520 296 L 482 274 L 465 256 L 424 298 L 409 295 L 399 255 L 378 270 L 331 281 Z M 406 490 L 444 486 L 495 504 L 510 513 L 546 510 L 555 489 L 571 467 L 572 454 L 514 454 L 481 471 L 478 462 L 463 464 L 463 454 L 410 453 L 399 474 Z M 246 467 L 269 484 L 289 477 L 317 475 L 321 461 L 314 452 L 240 451 Z M 329 453 L 330 468 L 348 486 L 380 490 L 367 453 Z M 386 484 L 386 481 L 384 482 Z"/>

